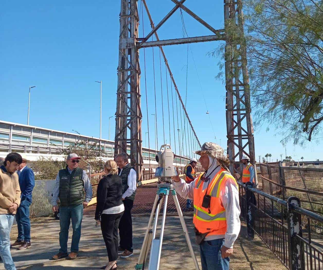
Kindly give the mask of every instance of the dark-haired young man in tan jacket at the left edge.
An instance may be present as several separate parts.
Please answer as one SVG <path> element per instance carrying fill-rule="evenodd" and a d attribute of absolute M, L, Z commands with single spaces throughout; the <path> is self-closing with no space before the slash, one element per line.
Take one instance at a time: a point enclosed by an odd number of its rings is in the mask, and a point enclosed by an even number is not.
<path fill-rule="evenodd" d="M 16 270 L 10 253 L 10 230 L 20 204 L 18 166 L 22 157 L 9 153 L 0 167 L 0 256 L 7 270 Z"/>

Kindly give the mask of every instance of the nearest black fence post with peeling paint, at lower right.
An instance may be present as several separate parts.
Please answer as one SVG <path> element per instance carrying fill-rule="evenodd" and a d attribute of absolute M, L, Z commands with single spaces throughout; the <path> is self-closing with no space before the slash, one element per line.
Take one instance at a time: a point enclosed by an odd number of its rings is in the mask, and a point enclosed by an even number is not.
<path fill-rule="evenodd" d="M 294 205 L 301 206 L 299 198 L 294 196 L 289 197 L 287 199 L 289 269 L 302 270 L 305 269 L 304 244 L 300 239 L 302 238 L 302 217 L 293 211 Z"/>

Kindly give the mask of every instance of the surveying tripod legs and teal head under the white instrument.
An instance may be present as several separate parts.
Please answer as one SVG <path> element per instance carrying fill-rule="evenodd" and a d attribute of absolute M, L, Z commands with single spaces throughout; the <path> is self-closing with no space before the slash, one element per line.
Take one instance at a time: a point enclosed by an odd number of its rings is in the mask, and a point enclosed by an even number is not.
<path fill-rule="evenodd" d="M 155 201 L 151 210 L 150 218 L 148 221 L 147 230 L 145 233 L 145 237 L 142 243 L 138 263 L 136 265 L 136 269 L 143 270 L 145 269 L 145 263 L 147 260 L 147 255 L 150 249 L 150 257 L 149 257 L 149 265 L 148 270 L 158 270 L 159 264 L 160 264 L 160 258 L 161 258 L 161 245 L 162 245 L 162 239 L 164 235 L 164 228 L 165 228 L 165 220 L 166 220 L 166 212 L 167 212 L 167 201 L 168 201 L 168 195 L 172 193 L 175 206 L 177 209 L 178 216 L 181 220 L 181 224 L 183 227 L 184 235 L 188 244 L 188 247 L 190 249 L 191 256 L 193 258 L 195 270 L 200 270 L 199 265 L 196 260 L 195 253 L 193 251 L 192 243 L 190 240 L 190 237 L 188 235 L 188 231 L 186 228 L 185 220 L 183 218 L 182 210 L 180 207 L 180 204 L 178 202 L 178 198 L 176 195 L 176 192 L 174 190 L 174 186 L 171 184 L 170 181 L 166 181 L 165 183 L 158 183 L 157 184 L 157 194 L 155 197 Z M 161 229 L 160 229 L 160 236 L 159 239 L 156 238 L 156 230 L 157 230 L 157 221 L 158 216 L 161 210 L 161 204 L 164 200 L 164 209 L 162 213 L 162 220 L 161 220 Z M 153 229 L 151 229 L 152 221 L 154 220 Z M 150 248 L 151 246 L 151 248 Z"/>

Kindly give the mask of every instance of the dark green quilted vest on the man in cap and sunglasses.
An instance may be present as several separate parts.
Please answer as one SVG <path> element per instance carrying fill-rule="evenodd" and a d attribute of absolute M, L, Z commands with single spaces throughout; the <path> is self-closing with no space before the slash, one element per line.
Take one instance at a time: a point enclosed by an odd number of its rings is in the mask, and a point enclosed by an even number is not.
<path fill-rule="evenodd" d="M 76 206 L 84 202 L 83 169 L 76 168 L 69 174 L 67 166 L 59 171 L 60 206 Z"/>

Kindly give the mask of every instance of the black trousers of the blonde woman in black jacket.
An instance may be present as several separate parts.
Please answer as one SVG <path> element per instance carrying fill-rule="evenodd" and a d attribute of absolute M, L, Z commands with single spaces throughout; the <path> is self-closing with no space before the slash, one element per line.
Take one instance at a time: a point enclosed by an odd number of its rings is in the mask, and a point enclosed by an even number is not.
<path fill-rule="evenodd" d="M 109 262 L 118 258 L 118 226 L 123 212 L 119 214 L 102 214 L 101 231 L 107 247 Z"/>

